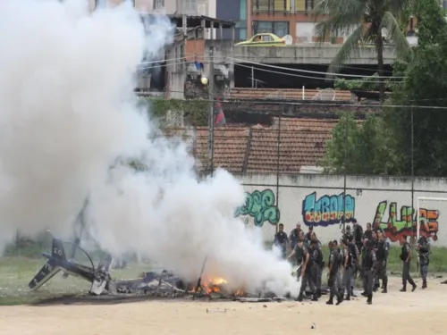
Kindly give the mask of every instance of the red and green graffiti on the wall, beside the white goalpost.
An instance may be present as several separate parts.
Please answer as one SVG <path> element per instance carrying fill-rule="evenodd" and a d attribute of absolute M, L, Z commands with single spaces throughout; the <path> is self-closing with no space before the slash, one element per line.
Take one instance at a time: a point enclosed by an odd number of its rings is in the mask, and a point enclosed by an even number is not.
<path fill-rule="evenodd" d="M 388 207 L 388 214 L 386 208 Z M 379 223 L 387 238 L 393 242 L 401 239 L 403 234 L 416 236 L 417 234 L 417 214 L 408 205 L 402 205 L 398 213 L 397 203 L 392 202 L 388 206 L 387 201 L 381 201 L 375 210 L 375 223 Z M 437 238 L 439 211 L 436 209 L 419 208 L 420 230 L 425 230 L 427 237 L 434 240 Z M 386 218 L 388 215 L 388 218 Z"/>

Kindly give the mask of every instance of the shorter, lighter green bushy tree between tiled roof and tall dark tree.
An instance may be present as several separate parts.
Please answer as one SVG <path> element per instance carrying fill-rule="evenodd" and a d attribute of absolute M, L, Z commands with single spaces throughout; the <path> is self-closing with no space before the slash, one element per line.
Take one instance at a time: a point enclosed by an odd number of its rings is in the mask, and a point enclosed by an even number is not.
<path fill-rule="evenodd" d="M 391 141 L 381 117 L 368 114 L 357 121 L 353 113 L 342 113 L 326 143 L 323 166 L 335 173 L 393 174 L 397 163 Z"/>

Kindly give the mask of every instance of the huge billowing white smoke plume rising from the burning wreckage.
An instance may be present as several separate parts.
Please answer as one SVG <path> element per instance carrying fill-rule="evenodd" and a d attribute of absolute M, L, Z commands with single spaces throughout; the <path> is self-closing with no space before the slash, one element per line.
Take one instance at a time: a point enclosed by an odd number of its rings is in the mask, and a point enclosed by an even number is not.
<path fill-rule="evenodd" d="M 156 136 L 137 107 L 134 71 L 172 40 L 170 22 L 145 32 L 130 4 L 87 7 L 0 2 L 0 247 L 17 230 L 70 238 L 89 196 L 89 235 L 113 255 L 135 252 L 191 281 L 207 255 L 207 274 L 235 289 L 296 293 L 291 266 L 234 218 L 240 183 L 224 171 L 198 182 L 186 146 Z"/>

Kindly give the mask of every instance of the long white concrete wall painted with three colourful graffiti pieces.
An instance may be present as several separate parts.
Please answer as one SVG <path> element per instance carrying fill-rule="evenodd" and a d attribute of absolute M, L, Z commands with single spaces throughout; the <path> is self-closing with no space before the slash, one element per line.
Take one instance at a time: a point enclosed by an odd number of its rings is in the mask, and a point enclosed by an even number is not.
<path fill-rule="evenodd" d="M 388 177 L 348 177 L 343 194 L 342 176 L 282 176 L 276 188 L 276 175 L 240 177 L 247 192 L 247 203 L 238 214 L 245 222 L 261 227 L 266 240 L 273 239 L 275 226 L 283 222 L 287 232 L 300 222 L 305 230 L 315 227 L 322 242 L 339 239 L 342 231 L 343 199 L 346 222 L 356 217 L 365 226 L 378 221 L 392 241 L 401 234 L 411 235 L 415 224 L 417 197 L 447 198 L 447 179 L 417 179 L 411 208 L 411 180 Z M 435 246 L 447 247 L 447 201 L 420 202 L 420 216 Z M 351 225 L 351 223 L 348 223 Z"/>

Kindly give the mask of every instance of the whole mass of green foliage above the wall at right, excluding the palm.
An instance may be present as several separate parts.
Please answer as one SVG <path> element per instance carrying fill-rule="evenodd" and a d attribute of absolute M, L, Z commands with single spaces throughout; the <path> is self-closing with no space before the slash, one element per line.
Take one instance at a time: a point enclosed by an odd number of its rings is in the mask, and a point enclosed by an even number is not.
<path fill-rule="evenodd" d="M 394 74 L 404 80 L 392 83 L 383 112 L 361 126 L 342 117 L 327 144 L 327 170 L 447 174 L 447 23 L 436 0 L 419 0 L 414 13 L 418 46 L 411 57 L 406 54 L 393 64 Z"/>

